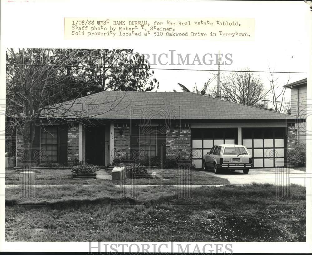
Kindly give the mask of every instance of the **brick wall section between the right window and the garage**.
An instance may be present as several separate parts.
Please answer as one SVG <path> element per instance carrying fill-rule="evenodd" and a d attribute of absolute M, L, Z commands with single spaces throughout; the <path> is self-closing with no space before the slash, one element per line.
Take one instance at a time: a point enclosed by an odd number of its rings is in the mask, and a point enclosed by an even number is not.
<path fill-rule="evenodd" d="M 166 132 L 166 157 L 169 159 L 190 159 L 191 128 L 189 124 L 172 124 Z"/>

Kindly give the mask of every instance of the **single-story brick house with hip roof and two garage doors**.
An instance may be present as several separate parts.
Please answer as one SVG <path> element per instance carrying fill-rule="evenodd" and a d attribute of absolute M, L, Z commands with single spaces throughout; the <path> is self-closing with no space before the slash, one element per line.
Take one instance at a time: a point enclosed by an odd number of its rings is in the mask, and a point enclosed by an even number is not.
<path fill-rule="evenodd" d="M 245 145 L 256 168 L 284 166 L 298 121 L 291 115 L 186 92 L 100 92 L 66 105 L 80 117 L 67 115 L 70 123 L 64 123 L 64 116 L 54 113 L 53 124 L 36 128 L 33 159 L 38 163 L 79 160 L 108 165 L 115 159 L 156 156 L 192 159 L 201 167 L 213 145 L 226 143 Z M 17 152 L 22 150 L 19 132 L 16 146 Z M 17 156 L 17 166 L 21 161 Z"/>

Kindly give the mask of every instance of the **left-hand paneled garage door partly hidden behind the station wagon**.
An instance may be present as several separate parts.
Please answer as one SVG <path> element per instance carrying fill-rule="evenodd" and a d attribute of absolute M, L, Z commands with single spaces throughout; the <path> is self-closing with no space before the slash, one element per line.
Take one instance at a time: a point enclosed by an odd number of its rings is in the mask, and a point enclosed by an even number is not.
<path fill-rule="evenodd" d="M 192 128 L 192 159 L 202 167 L 202 157 L 216 144 L 237 144 L 237 128 Z"/>

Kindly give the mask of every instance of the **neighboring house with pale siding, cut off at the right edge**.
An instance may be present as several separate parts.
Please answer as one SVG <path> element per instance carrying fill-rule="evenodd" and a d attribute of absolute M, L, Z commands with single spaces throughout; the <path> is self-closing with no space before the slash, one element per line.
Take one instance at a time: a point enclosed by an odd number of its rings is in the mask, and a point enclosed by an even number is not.
<path fill-rule="evenodd" d="M 286 84 L 283 87 L 291 89 L 291 115 L 301 119 L 295 123 L 296 142 L 306 144 L 307 79 Z"/>

